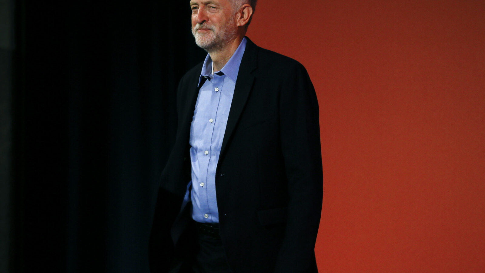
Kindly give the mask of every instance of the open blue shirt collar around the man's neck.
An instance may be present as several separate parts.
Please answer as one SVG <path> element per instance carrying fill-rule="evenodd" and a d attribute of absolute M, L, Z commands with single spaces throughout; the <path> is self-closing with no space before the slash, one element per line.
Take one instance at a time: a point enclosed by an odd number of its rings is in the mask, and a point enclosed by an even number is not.
<path fill-rule="evenodd" d="M 229 61 L 227 61 L 226 65 L 221 69 L 221 72 L 223 72 L 227 77 L 229 77 L 234 82 L 236 82 L 238 78 L 239 66 L 241 65 L 242 55 L 244 54 L 244 50 L 246 49 L 246 43 L 247 43 L 246 37 L 243 37 L 241 44 L 239 44 L 239 47 L 236 49 L 236 51 L 234 51 L 234 54 L 232 54 Z M 200 73 L 199 83 L 197 84 L 198 87 L 200 87 L 200 83 L 202 82 L 203 77 L 213 78 L 213 75 L 211 72 L 212 72 L 212 59 L 210 58 L 210 55 L 207 54 L 206 59 L 204 61 L 204 65 L 202 66 L 202 71 Z"/>

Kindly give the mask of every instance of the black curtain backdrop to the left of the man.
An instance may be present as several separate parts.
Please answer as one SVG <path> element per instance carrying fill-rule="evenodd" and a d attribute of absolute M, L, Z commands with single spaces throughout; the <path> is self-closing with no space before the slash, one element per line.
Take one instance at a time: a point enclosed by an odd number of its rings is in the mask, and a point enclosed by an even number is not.
<path fill-rule="evenodd" d="M 189 1 L 17 1 L 11 272 L 148 272 Z"/>

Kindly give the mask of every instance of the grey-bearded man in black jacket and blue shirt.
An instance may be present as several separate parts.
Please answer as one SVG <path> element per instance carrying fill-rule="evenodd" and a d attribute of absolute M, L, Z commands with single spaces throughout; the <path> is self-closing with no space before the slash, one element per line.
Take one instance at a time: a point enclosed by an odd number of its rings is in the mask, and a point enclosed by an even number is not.
<path fill-rule="evenodd" d="M 317 272 L 318 102 L 305 68 L 245 37 L 256 0 L 191 0 L 206 60 L 180 80 L 152 272 Z"/>

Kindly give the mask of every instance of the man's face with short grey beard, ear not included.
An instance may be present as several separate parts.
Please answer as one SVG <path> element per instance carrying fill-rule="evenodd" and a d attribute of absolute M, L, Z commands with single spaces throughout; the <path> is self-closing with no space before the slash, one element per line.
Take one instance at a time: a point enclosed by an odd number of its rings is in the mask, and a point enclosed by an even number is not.
<path fill-rule="evenodd" d="M 191 0 L 192 34 L 206 51 L 225 47 L 237 36 L 238 27 L 230 0 Z"/>

